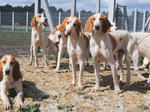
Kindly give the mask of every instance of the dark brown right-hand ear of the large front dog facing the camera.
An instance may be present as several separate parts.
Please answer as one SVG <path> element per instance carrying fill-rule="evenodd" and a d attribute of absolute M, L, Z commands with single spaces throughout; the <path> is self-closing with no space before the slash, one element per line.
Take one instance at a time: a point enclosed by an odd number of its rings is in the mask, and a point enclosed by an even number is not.
<path fill-rule="evenodd" d="M 107 31 L 109 31 L 110 27 L 111 27 L 111 23 L 109 22 L 108 18 L 105 16 L 102 21 L 102 31 L 106 33 Z"/>

